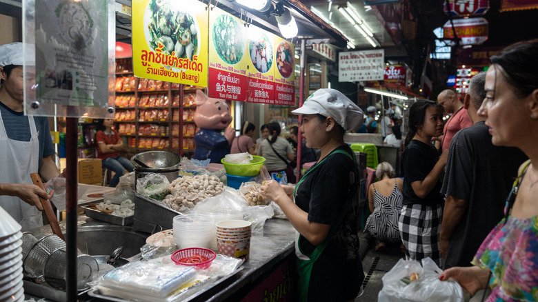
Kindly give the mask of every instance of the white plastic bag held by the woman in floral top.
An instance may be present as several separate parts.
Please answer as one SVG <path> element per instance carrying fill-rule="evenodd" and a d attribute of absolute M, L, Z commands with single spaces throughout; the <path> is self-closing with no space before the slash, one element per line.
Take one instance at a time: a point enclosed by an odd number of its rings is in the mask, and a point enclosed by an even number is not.
<path fill-rule="evenodd" d="M 464 301 L 463 289 L 455 279 L 440 281 L 442 270 L 430 258 L 422 259 L 421 263 L 422 265 L 415 260 L 400 259 L 383 276 L 383 289 L 379 292 L 377 301 Z"/>

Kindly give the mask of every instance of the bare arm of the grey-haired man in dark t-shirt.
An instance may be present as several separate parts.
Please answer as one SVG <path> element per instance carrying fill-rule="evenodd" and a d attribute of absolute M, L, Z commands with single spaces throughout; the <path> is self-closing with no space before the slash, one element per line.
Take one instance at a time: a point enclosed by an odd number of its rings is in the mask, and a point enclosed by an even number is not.
<path fill-rule="evenodd" d="M 452 196 L 446 197 L 443 222 L 441 223 L 441 234 L 439 236 L 439 251 L 443 258 L 446 258 L 450 237 L 464 217 L 468 205 L 469 202 L 466 200 L 457 199 Z"/>

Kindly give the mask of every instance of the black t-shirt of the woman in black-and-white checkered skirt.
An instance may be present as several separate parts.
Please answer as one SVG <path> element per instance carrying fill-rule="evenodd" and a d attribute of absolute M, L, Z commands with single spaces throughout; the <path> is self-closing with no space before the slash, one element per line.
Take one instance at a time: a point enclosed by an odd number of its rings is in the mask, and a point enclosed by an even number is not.
<path fill-rule="evenodd" d="M 439 160 L 437 150 L 432 146 L 413 139 L 406 150 L 403 151 L 403 171 L 406 177 L 403 178 L 403 204 L 412 205 L 437 205 L 443 201 L 441 194 L 441 181 L 424 197 L 417 197 L 411 186 L 414 181 L 422 181 L 432 172 L 435 163 Z"/>

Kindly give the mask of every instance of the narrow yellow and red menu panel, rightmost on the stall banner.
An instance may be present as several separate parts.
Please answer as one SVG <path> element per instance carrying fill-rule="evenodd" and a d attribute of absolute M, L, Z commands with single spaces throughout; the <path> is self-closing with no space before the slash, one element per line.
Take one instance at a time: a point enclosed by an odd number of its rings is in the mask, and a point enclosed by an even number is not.
<path fill-rule="evenodd" d="M 275 104 L 295 105 L 295 46 L 275 36 Z"/>

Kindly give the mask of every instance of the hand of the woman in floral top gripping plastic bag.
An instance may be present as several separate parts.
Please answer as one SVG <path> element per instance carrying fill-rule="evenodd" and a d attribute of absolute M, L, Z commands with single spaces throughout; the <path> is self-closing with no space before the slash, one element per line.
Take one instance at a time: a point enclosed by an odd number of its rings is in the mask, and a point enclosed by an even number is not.
<path fill-rule="evenodd" d="M 474 296 L 478 290 L 484 290 L 488 286 L 489 270 L 472 266 L 470 268 L 449 268 L 445 270 L 439 280 L 446 281 L 454 278 L 464 290 Z"/>

